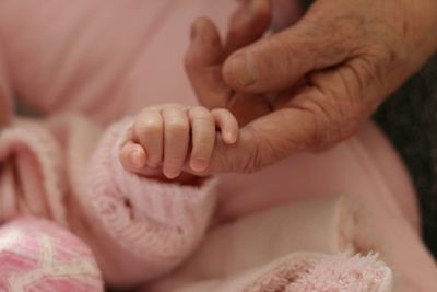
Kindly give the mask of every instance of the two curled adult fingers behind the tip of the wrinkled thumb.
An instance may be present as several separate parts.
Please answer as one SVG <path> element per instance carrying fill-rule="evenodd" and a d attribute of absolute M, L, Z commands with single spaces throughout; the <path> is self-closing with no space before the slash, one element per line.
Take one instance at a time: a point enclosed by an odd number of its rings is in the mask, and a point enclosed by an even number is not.
<path fill-rule="evenodd" d="M 185 66 L 203 106 L 215 108 L 227 105 L 232 91 L 223 83 L 223 60 L 228 54 L 262 36 L 270 23 L 270 7 L 269 0 L 243 1 L 233 14 L 224 46 L 216 26 L 209 19 L 194 21 Z"/>

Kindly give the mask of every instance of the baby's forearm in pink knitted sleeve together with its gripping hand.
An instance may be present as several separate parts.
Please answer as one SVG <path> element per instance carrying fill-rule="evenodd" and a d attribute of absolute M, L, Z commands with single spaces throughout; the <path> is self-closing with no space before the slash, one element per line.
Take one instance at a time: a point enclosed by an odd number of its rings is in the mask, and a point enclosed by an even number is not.
<path fill-rule="evenodd" d="M 145 108 L 105 131 L 85 175 L 80 172 L 85 189 L 75 191 L 79 206 L 71 209 L 80 213 L 74 230 L 92 247 L 107 283 L 146 282 L 191 254 L 210 224 L 215 184 L 177 176 L 190 168 L 184 166 L 188 160 L 192 168 L 206 167 L 215 140 L 232 143 L 237 133 L 227 110 L 176 105 Z M 75 139 L 83 144 L 87 137 Z"/>

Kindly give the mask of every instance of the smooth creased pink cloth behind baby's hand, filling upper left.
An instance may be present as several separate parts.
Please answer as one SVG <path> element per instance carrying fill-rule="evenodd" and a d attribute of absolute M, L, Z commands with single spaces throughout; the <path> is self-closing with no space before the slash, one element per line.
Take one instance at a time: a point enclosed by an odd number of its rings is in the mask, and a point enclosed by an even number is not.
<path fill-rule="evenodd" d="M 235 7 L 234 0 L 2 0 L 0 35 L 26 103 L 108 122 L 151 104 L 193 104 L 182 62 L 189 26 L 210 15 L 223 28 Z"/>

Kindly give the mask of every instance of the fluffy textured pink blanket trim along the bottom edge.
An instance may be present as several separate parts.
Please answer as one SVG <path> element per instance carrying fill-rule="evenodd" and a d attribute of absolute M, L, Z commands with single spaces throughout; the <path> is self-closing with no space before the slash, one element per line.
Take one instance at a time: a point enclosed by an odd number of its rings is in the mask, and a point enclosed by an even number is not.
<path fill-rule="evenodd" d="M 178 288 L 145 291 L 178 292 L 389 292 L 392 273 L 376 256 L 296 253 L 227 279 L 179 283 Z"/>

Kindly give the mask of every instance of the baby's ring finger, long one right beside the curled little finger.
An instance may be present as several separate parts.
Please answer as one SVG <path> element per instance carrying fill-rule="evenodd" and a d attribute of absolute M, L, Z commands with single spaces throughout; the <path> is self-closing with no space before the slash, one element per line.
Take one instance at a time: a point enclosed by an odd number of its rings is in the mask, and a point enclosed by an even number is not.
<path fill-rule="evenodd" d="M 215 121 L 210 110 L 201 106 L 191 108 L 189 117 L 192 132 L 190 167 L 202 172 L 209 166 L 214 150 Z"/>

